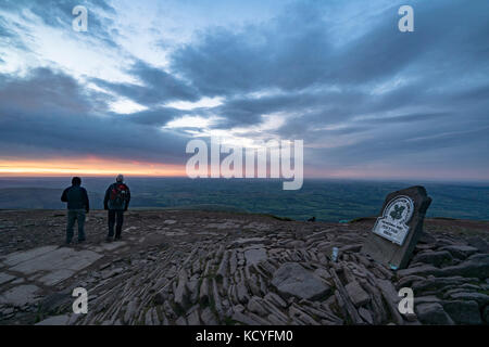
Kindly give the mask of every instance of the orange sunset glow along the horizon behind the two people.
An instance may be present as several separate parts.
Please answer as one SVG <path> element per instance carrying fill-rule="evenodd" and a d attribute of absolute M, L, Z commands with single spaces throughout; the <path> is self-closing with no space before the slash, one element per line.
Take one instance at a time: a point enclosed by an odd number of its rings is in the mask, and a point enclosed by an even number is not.
<path fill-rule="evenodd" d="M 124 172 L 131 176 L 185 176 L 185 166 L 145 162 L 120 162 L 103 158 L 70 158 L 49 160 L 0 159 L 0 176 L 110 176 Z"/>

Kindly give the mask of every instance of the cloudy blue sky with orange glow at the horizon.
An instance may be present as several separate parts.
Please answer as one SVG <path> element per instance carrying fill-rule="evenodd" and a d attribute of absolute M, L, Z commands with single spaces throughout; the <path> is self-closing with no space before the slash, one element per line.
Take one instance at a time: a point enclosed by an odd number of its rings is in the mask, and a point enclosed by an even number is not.
<path fill-rule="evenodd" d="M 0 0 L 3 176 L 185 176 L 214 136 L 303 140 L 306 178 L 488 181 L 488 134 L 489 1 Z"/>

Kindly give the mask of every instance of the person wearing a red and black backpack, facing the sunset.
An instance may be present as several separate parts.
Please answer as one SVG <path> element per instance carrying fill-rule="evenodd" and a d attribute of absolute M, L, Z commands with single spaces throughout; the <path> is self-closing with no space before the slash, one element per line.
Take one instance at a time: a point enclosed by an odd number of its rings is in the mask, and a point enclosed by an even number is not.
<path fill-rule="evenodd" d="M 115 183 L 109 185 L 105 191 L 105 197 L 103 198 L 103 208 L 109 210 L 109 234 L 105 241 L 111 242 L 114 237 L 114 224 L 115 224 L 115 239 L 121 240 L 122 226 L 124 222 L 124 213 L 129 207 L 130 191 L 124 183 L 124 176 L 117 175 Z"/>

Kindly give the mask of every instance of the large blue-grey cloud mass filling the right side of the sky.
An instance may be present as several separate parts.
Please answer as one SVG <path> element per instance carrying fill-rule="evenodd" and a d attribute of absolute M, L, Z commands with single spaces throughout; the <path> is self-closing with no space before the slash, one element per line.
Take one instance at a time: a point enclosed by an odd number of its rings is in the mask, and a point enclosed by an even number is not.
<path fill-rule="evenodd" d="M 288 120 L 272 132 L 325 144 L 310 151 L 310 164 L 387 157 L 399 164 L 404 156 L 430 158 L 444 151 L 453 153 L 455 167 L 465 153 L 489 168 L 474 150 L 489 142 L 480 130 L 489 126 L 488 2 L 416 2 L 410 34 L 398 30 L 398 8 L 390 7 L 339 47 L 323 16 L 328 5 L 311 3 L 242 31 L 209 30 L 173 56 L 175 70 L 204 94 L 228 97 L 214 110 L 225 117 L 217 127 L 284 113 Z M 266 89 L 283 93 L 241 97 Z M 340 127 L 322 130 L 335 124 Z"/>

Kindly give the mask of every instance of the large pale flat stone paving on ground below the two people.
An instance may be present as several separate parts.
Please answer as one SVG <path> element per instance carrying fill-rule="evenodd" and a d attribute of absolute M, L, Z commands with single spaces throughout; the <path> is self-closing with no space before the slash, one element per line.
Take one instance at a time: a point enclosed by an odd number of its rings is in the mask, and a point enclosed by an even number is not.
<path fill-rule="evenodd" d="M 15 254 L 10 259 L 11 264 L 15 264 L 15 266 L 9 270 L 26 275 L 41 271 L 47 272 L 39 279 L 46 285 L 60 283 L 103 257 L 92 250 L 53 248 L 52 246 L 30 249 L 25 254 Z"/>

